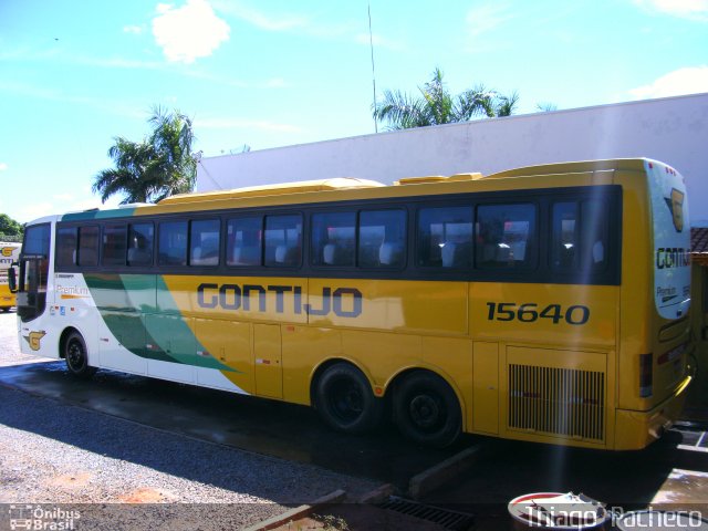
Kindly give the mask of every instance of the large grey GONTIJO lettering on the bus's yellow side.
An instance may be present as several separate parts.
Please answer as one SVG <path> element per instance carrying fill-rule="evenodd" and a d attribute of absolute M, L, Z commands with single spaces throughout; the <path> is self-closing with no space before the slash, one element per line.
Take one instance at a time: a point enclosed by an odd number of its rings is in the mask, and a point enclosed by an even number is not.
<path fill-rule="evenodd" d="M 268 293 L 275 294 L 275 308 L 268 308 Z M 313 294 L 311 293 L 311 296 Z M 313 299 L 320 299 L 320 308 L 302 303 L 301 285 L 260 285 L 260 284 L 215 284 L 204 282 L 197 288 L 197 303 L 201 308 L 221 308 L 246 312 L 267 312 L 274 310 L 284 313 L 292 310 L 296 315 L 329 315 L 357 317 L 362 313 L 362 292 L 356 288 L 322 288 Z"/>

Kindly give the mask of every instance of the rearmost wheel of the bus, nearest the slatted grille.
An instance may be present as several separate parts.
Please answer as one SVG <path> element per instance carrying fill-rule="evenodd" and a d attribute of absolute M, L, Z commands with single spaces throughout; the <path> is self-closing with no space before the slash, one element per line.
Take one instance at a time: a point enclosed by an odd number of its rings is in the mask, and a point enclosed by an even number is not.
<path fill-rule="evenodd" d="M 415 372 L 394 391 L 394 421 L 415 442 L 450 446 L 461 433 L 462 415 L 457 395 L 445 379 L 429 372 Z"/>

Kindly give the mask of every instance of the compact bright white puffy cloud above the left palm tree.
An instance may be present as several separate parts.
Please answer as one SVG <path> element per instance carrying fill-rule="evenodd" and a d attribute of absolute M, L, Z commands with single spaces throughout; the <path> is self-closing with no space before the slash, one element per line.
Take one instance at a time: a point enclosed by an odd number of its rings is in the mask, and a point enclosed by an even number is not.
<path fill-rule="evenodd" d="M 230 28 L 207 0 L 187 0 L 181 8 L 157 4 L 153 35 L 170 62 L 194 63 L 214 53 L 229 40 Z"/>

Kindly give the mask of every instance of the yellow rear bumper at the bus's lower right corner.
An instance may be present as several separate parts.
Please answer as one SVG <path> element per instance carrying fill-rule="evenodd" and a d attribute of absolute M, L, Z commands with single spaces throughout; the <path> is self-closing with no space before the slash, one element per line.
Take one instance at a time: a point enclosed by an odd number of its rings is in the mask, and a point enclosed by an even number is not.
<path fill-rule="evenodd" d="M 674 394 L 648 412 L 617 409 L 615 450 L 641 450 L 660 438 L 679 417 L 693 376 L 687 376 Z"/>

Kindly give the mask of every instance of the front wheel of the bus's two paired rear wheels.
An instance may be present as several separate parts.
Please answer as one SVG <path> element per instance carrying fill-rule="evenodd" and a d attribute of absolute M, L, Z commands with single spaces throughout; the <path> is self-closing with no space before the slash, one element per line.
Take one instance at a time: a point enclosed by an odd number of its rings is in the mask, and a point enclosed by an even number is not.
<path fill-rule="evenodd" d="M 363 434 L 379 424 L 384 403 L 372 393 L 366 376 L 348 363 L 335 363 L 317 378 L 314 405 L 337 431 Z"/>

